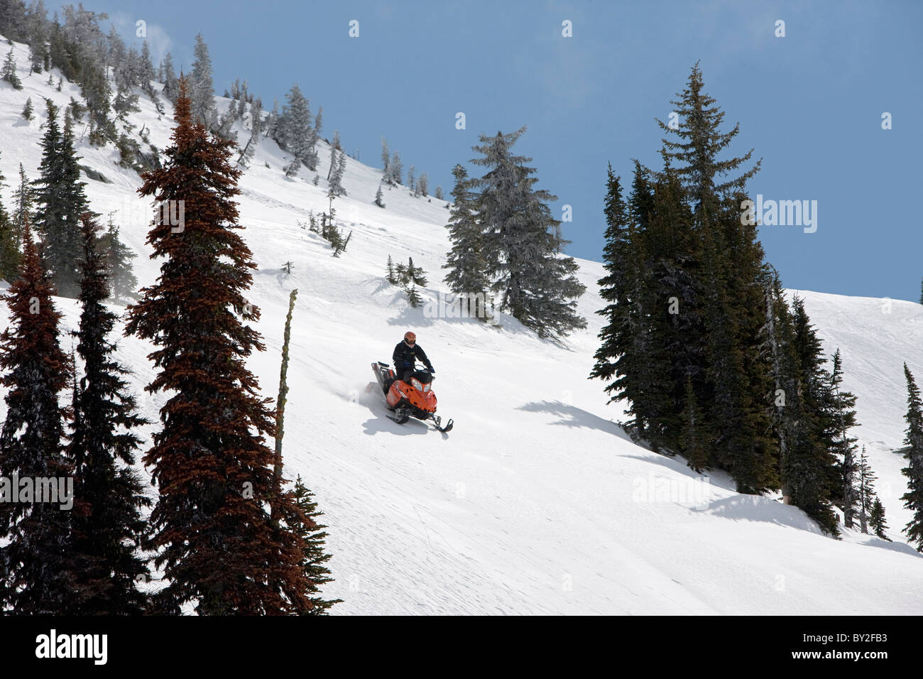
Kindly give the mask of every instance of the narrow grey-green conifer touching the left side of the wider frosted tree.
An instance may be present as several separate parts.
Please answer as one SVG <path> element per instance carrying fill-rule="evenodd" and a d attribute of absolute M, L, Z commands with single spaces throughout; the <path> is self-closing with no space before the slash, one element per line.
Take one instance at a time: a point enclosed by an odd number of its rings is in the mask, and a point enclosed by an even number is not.
<path fill-rule="evenodd" d="M 449 213 L 449 239 L 452 247 L 446 256 L 443 269 L 448 269 L 443 279 L 452 292 L 462 296 L 469 313 L 486 320 L 487 261 L 484 254 L 484 235 L 475 213 L 475 196 L 468 172 L 461 164 L 452 168 L 455 186 L 452 188 L 454 204 Z"/>

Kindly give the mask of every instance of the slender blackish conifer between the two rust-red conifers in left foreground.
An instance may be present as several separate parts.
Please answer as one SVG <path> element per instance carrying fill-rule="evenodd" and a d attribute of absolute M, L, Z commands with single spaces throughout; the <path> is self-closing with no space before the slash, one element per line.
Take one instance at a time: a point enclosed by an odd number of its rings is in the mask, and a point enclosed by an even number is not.
<path fill-rule="evenodd" d="M 81 224 L 77 351 L 84 375 L 75 388 L 69 450 L 76 467 L 76 588 L 86 596 L 81 614 L 138 614 L 145 611 L 146 596 L 136 583 L 150 576 L 146 561 L 138 556 L 147 532 L 141 508 L 150 500 L 133 467 L 141 443 L 134 430 L 148 421 L 136 412 L 125 380 L 128 370 L 114 360 L 115 345 L 108 339 L 116 316 L 103 305 L 109 297 L 109 274 L 100 248 L 101 228 L 89 212 L 81 216 Z"/>

